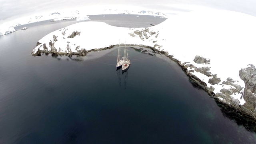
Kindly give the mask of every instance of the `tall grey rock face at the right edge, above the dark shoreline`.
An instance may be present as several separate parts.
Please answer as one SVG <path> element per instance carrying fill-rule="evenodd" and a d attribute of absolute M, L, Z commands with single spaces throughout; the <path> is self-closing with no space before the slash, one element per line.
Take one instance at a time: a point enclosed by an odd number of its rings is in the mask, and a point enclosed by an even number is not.
<path fill-rule="evenodd" d="M 246 103 L 244 107 L 256 113 L 256 68 L 252 64 L 248 66 L 239 71 L 239 76 L 245 83 L 243 98 Z"/>

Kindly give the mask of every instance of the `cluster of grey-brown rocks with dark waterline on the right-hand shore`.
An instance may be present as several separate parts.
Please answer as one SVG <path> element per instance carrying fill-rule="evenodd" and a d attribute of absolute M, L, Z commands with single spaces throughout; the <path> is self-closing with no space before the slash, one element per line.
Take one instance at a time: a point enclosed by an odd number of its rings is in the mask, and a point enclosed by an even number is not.
<path fill-rule="evenodd" d="M 171 56 L 168 57 L 174 59 Z M 204 62 L 205 64 L 207 64 L 207 62 L 209 64 L 210 62 L 210 60 L 208 61 L 201 56 L 196 56 L 194 61 L 198 63 Z M 232 119 L 234 119 L 239 124 L 242 124 L 248 130 L 256 132 L 256 68 L 252 64 L 250 64 L 248 65 L 250 66 L 249 68 L 240 70 L 240 78 L 244 80 L 246 84 L 246 88 L 244 88 L 244 92 L 242 92 L 243 87 L 235 84 L 236 81 L 232 78 L 227 78 L 226 81 L 223 81 L 222 84 L 220 84 L 221 80 L 217 78 L 217 75 L 207 73 L 210 67 L 198 69 L 193 64 L 187 63 L 189 62 L 184 62 L 183 64 L 178 62 L 182 70 L 189 76 L 189 82 L 195 88 L 205 90 L 211 97 L 213 97 L 217 102 L 218 106 L 222 108 L 226 116 L 231 116 Z M 219 84 L 223 86 L 228 85 L 230 86 L 230 88 L 227 88 L 227 86 L 225 86 L 226 88 L 223 88 L 222 90 L 220 90 L 220 92 L 214 94 L 214 87 L 207 87 L 207 85 L 202 80 L 192 74 L 194 72 L 193 70 L 188 70 L 189 68 L 194 68 L 194 71 L 212 76 L 213 78 L 209 79 L 209 83 Z M 240 101 L 232 96 L 238 94 L 241 96 L 240 99 L 242 99 L 243 97 L 246 101 L 244 105 L 240 105 Z"/>

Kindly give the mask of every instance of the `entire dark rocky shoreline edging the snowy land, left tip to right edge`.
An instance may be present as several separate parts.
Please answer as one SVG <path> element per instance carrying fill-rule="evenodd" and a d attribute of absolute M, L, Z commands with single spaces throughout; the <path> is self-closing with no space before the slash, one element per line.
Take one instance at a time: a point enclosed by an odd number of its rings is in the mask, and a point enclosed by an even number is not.
<path fill-rule="evenodd" d="M 53 42 L 54 43 L 54 42 Z M 37 43 L 37 46 L 40 43 Z M 124 44 L 121 44 L 124 45 Z M 54 55 L 66 55 L 66 56 L 72 56 L 72 55 L 79 55 L 79 56 L 86 56 L 88 52 L 92 51 L 100 51 L 100 50 L 106 50 L 111 49 L 116 45 L 110 45 L 108 47 L 104 48 L 95 48 L 92 50 L 86 51 L 85 49 L 78 50 L 78 52 L 58 52 L 56 48 L 54 48 L 54 44 L 50 44 L 51 50 L 47 51 L 47 48 L 44 50 L 39 50 L 36 53 L 32 53 L 33 56 L 40 56 L 42 53 L 48 55 L 52 54 Z M 168 58 L 170 58 L 172 61 L 176 62 L 180 68 L 184 71 L 184 73 L 189 77 L 190 83 L 199 89 L 204 90 L 210 97 L 214 98 L 218 106 L 220 106 L 222 112 L 225 113 L 227 117 L 230 117 L 234 119 L 238 124 L 241 124 L 248 130 L 252 132 L 256 132 L 256 68 L 254 65 L 249 64 L 248 68 L 241 69 L 239 72 L 240 78 L 245 82 L 245 88 L 244 92 L 241 92 L 242 97 L 246 100 L 246 103 L 244 105 L 239 105 L 239 101 L 235 100 L 231 95 L 234 92 L 240 92 L 242 90 L 242 87 L 239 85 L 236 85 L 233 83 L 232 78 L 228 78 L 226 81 L 224 81 L 222 84 L 227 84 L 230 86 L 233 86 L 234 88 L 231 89 L 222 89 L 221 93 L 215 94 L 214 87 L 210 86 L 208 87 L 205 82 L 200 80 L 197 76 L 193 74 L 194 71 L 200 72 L 202 74 L 205 74 L 206 76 L 213 76 L 209 80 L 210 84 L 218 84 L 220 82 L 217 75 L 213 75 L 209 72 L 210 68 L 208 67 L 202 67 L 202 68 L 196 68 L 192 64 L 187 64 L 187 62 L 181 63 L 179 60 L 173 58 L 172 55 L 169 55 L 166 51 L 158 50 L 154 47 L 145 46 L 145 45 L 138 45 L 138 44 L 126 44 L 126 46 L 139 46 L 143 48 L 147 48 L 152 50 L 155 54 L 162 54 Z M 148 53 L 152 56 L 150 52 L 147 50 L 143 50 L 141 52 Z M 196 63 L 204 63 L 204 64 L 210 64 L 210 60 L 207 60 L 201 56 L 196 56 L 194 59 L 194 62 Z M 192 68 L 194 70 L 192 70 Z M 189 70 L 190 69 L 190 70 Z M 242 122 L 241 122 L 242 121 Z"/>

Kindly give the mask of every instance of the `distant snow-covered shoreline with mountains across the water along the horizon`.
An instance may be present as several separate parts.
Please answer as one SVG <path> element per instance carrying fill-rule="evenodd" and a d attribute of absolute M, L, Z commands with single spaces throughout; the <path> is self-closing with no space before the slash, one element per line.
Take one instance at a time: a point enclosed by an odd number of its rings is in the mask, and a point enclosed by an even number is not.
<path fill-rule="evenodd" d="M 159 16 L 164 18 L 167 16 L 164 13 L 161 12 L 153 12 L 153 11 L 146 11 L 146 10 L 118 10 L 118 9 L 103 9 L 103 10 L 92 10 L 89 12 L 90 15 L 97 15 L 97 14 L 137 14 L 137 15 L 152 15 L 152 16 Z M 0 25 L 0 36 L 8 34 L 10 32 L 14 32 L 15 26 L 21 26 L 24 24 L 34 23 L 34 22 L 41 22 L 44 20 L 51 20 L 52 22 L 60 21 L 60 20 L 69 20 L 69 19 L 75 19 L 76 21 L 82 21 L 82 20 L 90 20 L 88 18 L 88 11 L 84 10 L 73 10 L 73 11 L 59 11 L 59 12 L 51 12 L 51 13 L 43 13 L 43 14 L 37 14 L 34 16 L 28 16 L 16 20 L 12 20 L 10 22 L 6 22 L 2 25 Z M 13 28 L 10 30 L 10 28 Z"/>

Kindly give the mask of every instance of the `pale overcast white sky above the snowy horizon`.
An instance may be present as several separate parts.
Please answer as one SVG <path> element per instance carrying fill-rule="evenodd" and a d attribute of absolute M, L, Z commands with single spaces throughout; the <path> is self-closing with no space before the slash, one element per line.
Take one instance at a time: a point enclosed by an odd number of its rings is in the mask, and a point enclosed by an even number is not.
<path fill-rule="evenodd" d="M 128 10 L 154 10 L 167 14 L 188 12 L 202 8 L 233 10 L 256 16 L 256 0 L 0 0 L 0 24 L 46 11 L 90 6 L 124 5 Z M 123 9 L 116 6 L 116 9 Z"/>

